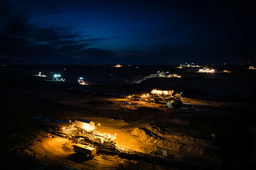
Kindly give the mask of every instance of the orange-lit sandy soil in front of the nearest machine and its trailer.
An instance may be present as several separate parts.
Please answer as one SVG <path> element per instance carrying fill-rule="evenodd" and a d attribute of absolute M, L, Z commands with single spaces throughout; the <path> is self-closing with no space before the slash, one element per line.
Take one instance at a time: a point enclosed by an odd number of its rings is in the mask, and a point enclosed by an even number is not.
<path fill-rule="evenodd" d="M 47 138 L 46 133 L 38 131 L 38 139 L 33 149 L 39 159 L 46 162 L 59 162 L 67 166 L 78 169 L 89 170 L 116 170 L 120 164 L 128 166 L 128 164 L 137 164 L 137 161 L 121 159 L 117 156 L 107 154 L 96 154 L 92 159 L 87 157 L 81 158 L 73 150 L 73 142 L 69 139 L 55 136 Z M 151 168 L 150 164 L 144 164 L 147 169 Z M 157 167 L 159 170 L 165 170 L 163 167 Z"/>

